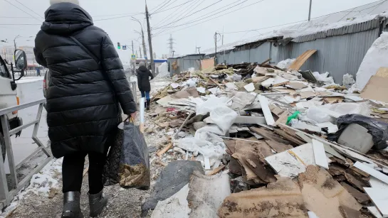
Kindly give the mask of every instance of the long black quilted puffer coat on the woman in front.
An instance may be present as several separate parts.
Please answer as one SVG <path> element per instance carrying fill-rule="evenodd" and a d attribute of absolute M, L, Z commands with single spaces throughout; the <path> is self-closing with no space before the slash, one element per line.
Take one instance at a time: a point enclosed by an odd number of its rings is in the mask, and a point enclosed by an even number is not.
<path fill-rule="evenodd" d="M 51 73 L 46 109 L 53 156 L 103 153 L 121 117 L 119 103 L 125 114 L 136 111 L 115 46 L 80 6 L 53 4 L 45 17 L 35 39 L 35 55 Z M 69 36 L 98 57 L 100 64 Z"/>

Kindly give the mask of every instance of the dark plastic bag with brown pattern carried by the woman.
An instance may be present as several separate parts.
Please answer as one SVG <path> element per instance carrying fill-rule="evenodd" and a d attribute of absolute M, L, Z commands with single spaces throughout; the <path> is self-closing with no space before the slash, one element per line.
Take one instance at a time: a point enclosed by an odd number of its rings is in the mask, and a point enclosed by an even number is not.
<path fill-rule="evenodd" d="M 148 147 L 139 126 L 124 122 L 118 130 L 104 166 L 103 180 L 105 186 L 119 183 L 123 188 L 150 188 Z"/>

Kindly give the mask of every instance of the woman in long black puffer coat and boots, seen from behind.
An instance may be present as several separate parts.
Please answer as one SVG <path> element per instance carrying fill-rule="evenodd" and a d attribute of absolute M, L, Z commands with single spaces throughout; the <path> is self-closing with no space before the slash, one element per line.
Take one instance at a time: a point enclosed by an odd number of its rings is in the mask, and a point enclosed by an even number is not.
<path fill-rule="evenodd" d="M 137 111 L 122 62 L 108 34 L 93 26 L 76 0 L 51 0 L 34 53 L 51 73 L 47 124 L 53 156 L 63 157 L 62 217 L 83 217 L 80 190 L 87 155 L 90 216 L 97 217 L 108 203 L 103 195 L 108 148 L 122 111 L 133 118 Z"/>

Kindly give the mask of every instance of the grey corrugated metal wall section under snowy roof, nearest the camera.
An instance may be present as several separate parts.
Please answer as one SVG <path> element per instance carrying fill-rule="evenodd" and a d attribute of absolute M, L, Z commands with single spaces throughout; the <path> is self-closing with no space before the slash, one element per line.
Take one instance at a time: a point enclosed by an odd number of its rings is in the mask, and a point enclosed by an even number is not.
<path fill-rule="evenodd" d="M 330 72 L 337 83 L 349 73 L 355 77 L 367 50 L 379 37 L 379 28 L 360 33 L 320 38 L 304 43 L 288 43 L 278 46 L 278 60 L 298 58 L 306 50 L 318 50 L 300 70 L 320 73 Z"/>

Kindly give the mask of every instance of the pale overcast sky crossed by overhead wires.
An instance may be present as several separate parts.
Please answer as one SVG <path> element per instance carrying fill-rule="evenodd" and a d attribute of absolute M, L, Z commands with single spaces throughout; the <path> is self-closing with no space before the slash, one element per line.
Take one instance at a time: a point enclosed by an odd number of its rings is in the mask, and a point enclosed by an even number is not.
<path fill-rule="evenodd" d="M 312 18 L 374 1 L 376 0 L 313 0 Z M 164 6 L 163 3 L 167 3 L 167 5 Z M 179 4 L 182 6 L 178 6 Z M 147 5 L 150 13 L 156 11 L 150 18 L 150 25 L 153 28 L 152 34 L 154 34 L 154 38 L 152 38 L 154 53 L 157 54 L 158 58 L 162 54 L 169 53 L 169 45 L 167 45 L 169 33 L 174 38 L 175 55 L 188 54 L 195 53 L 196 47 L 201 47 L 201 50 L 213 48 L 216 31 L 219 33 L 246 31 L 307 20 L 308 4 L 309 0 L 148 0 Z M 13 40 L 18 35 L 23 36 L 23 38 L 16 40 L 18 46 L 33 46 L 33 39 L 40 29 L 44 11 L 48 6 L 48 0 L 0 0 L 0 40 L 8 40 L 8 43 L 0 42 L 0 47 L 13 46 Z M 93 16 L 95 26 L 103 28 L 115 44 L 120 42 L 121 45 L 130 45 L 131 40 L 133 40 L 135 50 L 139 53 L 141 38 L 135 31 L 140 31 L 140 24 L 132 21 L 130 15 L 135 14 L 134 17 L 139 19 L 146 30 L 144 1 L 80 0 L 80 6 Z M 160 6 L 164 7 L 157 11 Z M 170 9 L 173 7 L 175 8 Z M 225 13 L 228 14 L 221 16 Z M 192 15 L 188 16 L 190 14 Z M 185 16 L 188 17 L 184 18 Z M 219 17 L 217 18 L 217 16 Z M 198 21 L 201 18 L 203 19 Z M 192 26 L 196 23 L 199 24 Z M 171 26 L 172 28 L 167 28 Z M 192 27 L 187 28 L 188 26 Z M 225 34 L 224 43 L 258 36 L 260 33 L 271 30 L 273 28 L 259 33 L 251 31 Z M 145 34 L 147 34 L 146 31 Z M 30 36 L 33 38 L 28 38 Z M 145 40 L 148 48 L 147 36 Z M 131 50 L 119 50 L 123 62 L 129 60 L 131 53 Z"/>

